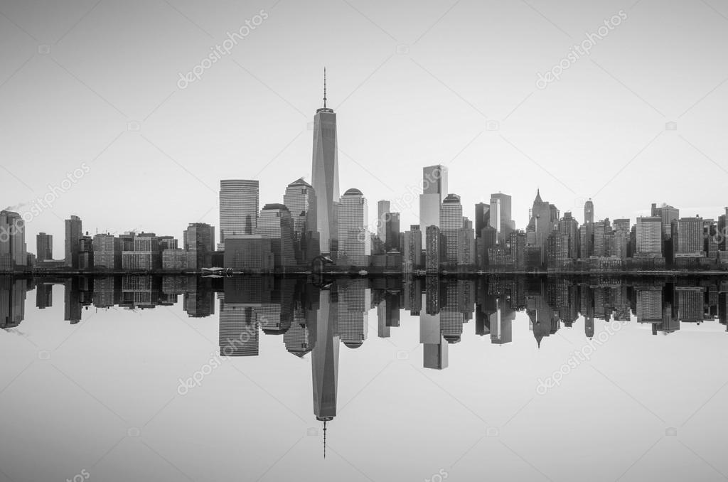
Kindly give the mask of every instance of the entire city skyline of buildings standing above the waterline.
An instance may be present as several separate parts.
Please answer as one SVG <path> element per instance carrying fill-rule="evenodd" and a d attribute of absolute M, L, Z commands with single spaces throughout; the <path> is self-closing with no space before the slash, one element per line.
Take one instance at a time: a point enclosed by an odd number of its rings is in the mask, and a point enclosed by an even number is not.
<path fill-rule="evenodd" d="M 325 87 L 324 87 L 325 89 Z M 325 92 L 325 90 L 324 90 Z M 23 218 L 0 213 L 0 270 L 157 269 L 199 271 L 222 267 L 234 272 L 306 271 L 323 256 L 332 269 L 374 272 L 610 271 L 630 269 L 728 269 L 726 213 L 719 218 L 680 218 L 672 206 L 652 205 L 651 216 L 595 221 L 585 203 L 583 223 L 561 216 L 537 191 L 526 229 L 518 230 L 508 194 L 491 194 L 475 205 L 472 221 L 460 197 L 448 191 L 443 165 L 423 168 L 419 224 L 400 231 L 392 202 L 377 205 L 376 232 L 370 231 L 362 191 L 339 190 L 336 113 L 324 106 L 314 115 L 312 183 L 290 183 L 282 203 L 260 208 L 258 181 L 220 183 L 220 239 L 214 229 L 190 224 L 183 248 L 169 236 L 126 233 L 84 234 L 81 220 L 66 220 L 66 257 L 52 259 L 52 237 L 37 237 L 37 253 L 25 250 Z M 414 199 L 411 199 L 414 202 Z M 400 206 L 397 206 L 400 204 Z M 395 208 L 408 208 L 395 202 Z M 6 235 L 7 234 L 7 235 Z"/>

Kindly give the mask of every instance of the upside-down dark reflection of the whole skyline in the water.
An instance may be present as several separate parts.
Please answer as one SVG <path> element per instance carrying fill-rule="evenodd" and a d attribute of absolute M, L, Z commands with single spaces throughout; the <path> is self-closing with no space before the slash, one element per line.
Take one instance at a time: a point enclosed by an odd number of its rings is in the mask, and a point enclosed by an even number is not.
<path fill-rule="evenodd" d="M 310 352 L 314 416 L 336 416 L 339 348 L 361 349 L 368 339 L 369 312 L 376 309 L 378 338 L 400 326 L 400 310 L 419 316 L 422 366 L 448 368 L 450 345 L 468 336 L 490 336 L 492 344 L 513 340 L 516 312 L 525 311 L 541 348 L 562 327 L 584 317 L 587 338 L 596 320 L 649 323 L 652 333 L 674 333 L 681 323 L 719 320 L 727 325 L 728 281 L 716 278 L 660 280 L 574 280 L 499 277 L 472 280 L 427 278 L 318 280 L 280 277 L 0 277 L 0 328 L 17 328 L 25 317 L 26 293 L 36 290 L 36 307 L 52 307 L 52 288 L 63 286 L 63 317 L 79 323 L 96 309 L 153 309 L 183 298 L 189 317 L 215 315 L 219 300 L 220 354 L 258 356 L 260 336 L 281 336 L 296 357 Z M 472 323 L 471 323 L 472 322 Z M 452 347 L 456 349 L 456 347 Z"/>

